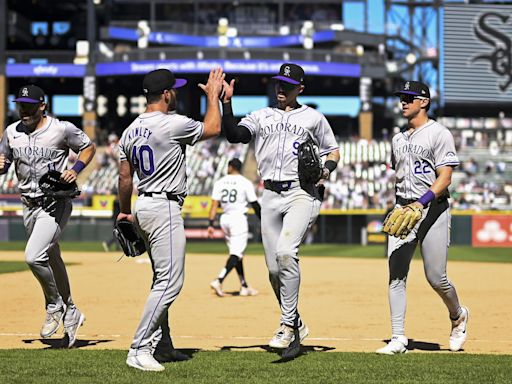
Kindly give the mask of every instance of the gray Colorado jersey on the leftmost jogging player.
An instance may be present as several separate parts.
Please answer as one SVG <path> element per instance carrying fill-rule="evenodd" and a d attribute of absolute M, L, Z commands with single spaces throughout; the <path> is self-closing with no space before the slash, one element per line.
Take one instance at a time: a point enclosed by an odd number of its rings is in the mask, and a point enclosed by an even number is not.
<path fill-rule="evenodd" d="M 18 187 L 27 197 L 42 196 L 39 179 L 49 170 L 62 172 L 68 164 L 69 149 L 78 153 L 91 145 L 87 135 L 68 121 L 46 117 L 44 127 L 25 133 L 17 121 L 9 125 L 0 142 L 0 153 L 14 163 Z"/>

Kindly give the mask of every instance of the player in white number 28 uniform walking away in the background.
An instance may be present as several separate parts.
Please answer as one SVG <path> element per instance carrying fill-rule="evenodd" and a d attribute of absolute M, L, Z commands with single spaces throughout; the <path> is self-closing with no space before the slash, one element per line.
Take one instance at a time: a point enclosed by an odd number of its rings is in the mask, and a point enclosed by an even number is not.
<path fill-rule="evenodd" d="M 255 296 L 258 291 L 247 285 L 244 274 L 242 258 L 247 247 L 249 226 L 247 224 L 247 203 L 249 202 L 256 216 L 261 218 L 261 207 L 258 203 L 254 186 L 251 181 L 240 174 L 242 162 L 232 159 L 228 163 L 228 174 L 219 179 L 213 186 L 212 207 L 210 209 L 210 225 L 208 236 L 213 238 L 213 221 L 217 215 L 217 208 L 222 205 L 223 214 L 220 217 L 220 226 L 224 232 L 229 248 L 229 258 L 226 266 L 222 268 L 219 276 L 210 283 L 218 296 L 224 296 L 222 282 L 233 268 L 240 279 L 240 296 Z"/>

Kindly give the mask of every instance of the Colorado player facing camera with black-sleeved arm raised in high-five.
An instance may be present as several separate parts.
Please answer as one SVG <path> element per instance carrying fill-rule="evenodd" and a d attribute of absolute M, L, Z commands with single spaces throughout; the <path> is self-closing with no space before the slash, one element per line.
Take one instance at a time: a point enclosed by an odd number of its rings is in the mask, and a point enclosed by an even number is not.
<path fill-rule="evenodd" d="M 304 70 L 286 63 L 273 78 L 277 106 L 254 111 L 238 124 L 231 107 L 235 82 L 224 82 L 222 122 L 229 142 L 255 143 L 258 171 L 265 187 L 261 234 L 270 283 L 281 308 L 281 325 L 269 345 L 283 349 L 295 339 L 294 330 L 299 330 L 300 341 L 309 333 L 297 311 L 299 245 L 315 222 L 321 204 L 316 186 L 302 186 L 299 181 L 297 150 L 311 139 L 320 155 L 327 155 L 323 179 L 334 171 L 340 155 L 327 119 L 297 101 L 304 91 Z"/>

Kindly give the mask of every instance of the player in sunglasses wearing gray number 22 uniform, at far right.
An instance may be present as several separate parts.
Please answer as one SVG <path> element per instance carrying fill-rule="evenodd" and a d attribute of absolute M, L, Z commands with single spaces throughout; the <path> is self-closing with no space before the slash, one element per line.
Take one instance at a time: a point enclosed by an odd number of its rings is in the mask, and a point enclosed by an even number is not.
<path fill-rule="evenodd" d="M 448 186 L 453 168 L 459 165 L 453 136 L 429 119 L 430 91 L 420 82 L 407 81 L 396 92 L 400 97 L 406 130 L 392 140 L 392 167 L 396 172 L 396 206 L 422 212 L 405 238 L 389 236 L 389 305 L 391 341 L 377 353 L 393 355 L 407 351 L 405 336 L 406 282 L 416 245 L 420 244 L 425 275 L 443 299 L 452 323 L 450 350 L 458 351 L 467 338 L 469 311 L 459 304 L 455 287 L 446 276 L 450 243 Z"/>

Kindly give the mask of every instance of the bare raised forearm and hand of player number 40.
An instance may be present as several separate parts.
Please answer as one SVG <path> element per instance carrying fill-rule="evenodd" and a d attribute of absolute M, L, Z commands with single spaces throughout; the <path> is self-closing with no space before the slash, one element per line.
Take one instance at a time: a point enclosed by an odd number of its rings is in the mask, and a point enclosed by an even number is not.
<path fill-rule="evenodd" d="M 206 84 L 199 84 L 204 93 L 206 93 L 206 115 L 204 117 L 204 130 L 201 140 L 220 135 L 220 108 L 219 95 L 222 92 L 222 82 L 225 74 L 222 68 L 212 69 Z"/>

